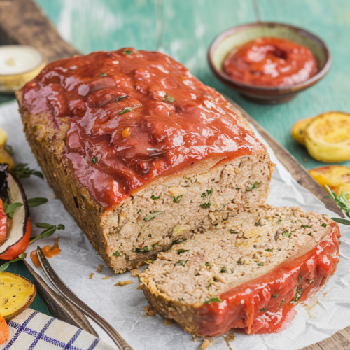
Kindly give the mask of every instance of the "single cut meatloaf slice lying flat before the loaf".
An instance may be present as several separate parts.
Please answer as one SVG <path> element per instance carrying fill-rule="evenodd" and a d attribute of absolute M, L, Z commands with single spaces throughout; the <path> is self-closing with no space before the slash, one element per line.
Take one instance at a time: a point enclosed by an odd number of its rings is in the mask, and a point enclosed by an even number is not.
<path fill-rule="evenodd" d="M 339 228 L 299 207 L 244 211 L 158 255 L 140 274 L 156 311 L 195 335 L 279 332 L 339 261 Z"/>

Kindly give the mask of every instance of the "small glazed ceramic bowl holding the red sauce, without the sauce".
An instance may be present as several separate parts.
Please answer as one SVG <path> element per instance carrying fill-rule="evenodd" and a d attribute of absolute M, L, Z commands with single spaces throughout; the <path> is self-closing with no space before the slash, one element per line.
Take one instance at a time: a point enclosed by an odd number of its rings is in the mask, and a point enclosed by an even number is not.
<path fill-rule="evenodd" d="M 248 41 L 266 36 L 286 38 L 309 48 L 318 62 L 318 73 L 302 83 L 281 87 L 265 87 L 239 83 L 223 71 L 223 60 L 229 52 Z M 275 22 L 255 22 L 224 31 L 211 43 L 208 60 L 211 70 L 219 80 L 237 90 L 246 99 L 260 104 L 281 104 L 290 101 L 298 92 L 321 80 L 332 64 L 330 50 L 321 38 L 304 29 Z"/>

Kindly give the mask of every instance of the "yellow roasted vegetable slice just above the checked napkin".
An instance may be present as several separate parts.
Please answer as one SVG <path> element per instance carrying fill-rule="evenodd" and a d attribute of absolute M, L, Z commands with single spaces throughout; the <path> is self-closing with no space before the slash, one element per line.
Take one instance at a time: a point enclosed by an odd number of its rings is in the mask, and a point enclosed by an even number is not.
<path fill-rule="evenodd" d="M 14 318 L 33 302 L 36 288 L 18 274 L 0 272 L 0 314 L 6 320 Z"/>

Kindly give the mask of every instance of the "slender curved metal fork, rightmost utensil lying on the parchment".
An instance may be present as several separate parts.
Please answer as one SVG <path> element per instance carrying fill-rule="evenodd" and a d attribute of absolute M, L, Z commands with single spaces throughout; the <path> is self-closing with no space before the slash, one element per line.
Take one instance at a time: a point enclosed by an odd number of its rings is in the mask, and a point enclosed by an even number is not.
<path fill-rule="evenodd" d="M 96 322 L 116 343 L 118 349 L 120 350 L 133 350 L 132 347 L 125 342 L 123 337 L 99 314 L 81 301 L 62 281 L 62 279 L 57 276 L 56 272 L 52 269 L 48 259 L 45 258 L 43 251 L 40 246 L 36 247 L 36 252 L 38 253 L 38 260 L 43 267 L 43 272 L 45 276 L 48 277 L 48 280 L 52 283 L 52 286 L 55 287 L 57 292 L 66 298 L 71 304 L 78 308 L 85 316 L 90 317 L 94 322 Z"/>

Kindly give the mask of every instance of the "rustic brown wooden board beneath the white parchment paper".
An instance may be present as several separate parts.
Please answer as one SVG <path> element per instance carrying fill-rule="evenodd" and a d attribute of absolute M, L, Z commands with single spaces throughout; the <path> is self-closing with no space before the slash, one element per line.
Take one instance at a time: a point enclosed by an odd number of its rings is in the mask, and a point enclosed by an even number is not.
<path fill-rule="evenodd" d="M 251 12 L 251 9 L 249 11 Z M 182 28 L 184 29 L 186 26 L 183 26 Z M 186 33 L 186 35 L 188 34 Z M 32 0 L 0 1 L 0 37 L 0 41 L 3 43 L 20 43 L 32 45 L 38 48 L 38 50 L 41 50 L 45 57 L 48 58 L 48 62 L 52 62 L 55 59 L 61 59 L 80 54 L 78 50 L 66 43 L 59 36 L 59 34 L 57 34 L 55 27 L 53 27 L 50 21 L 45 18 L 43 13 L 41 13 L 41 10 Z M 235 102 L 232 100 L 230 100 L 230 102 L 233 106 L 235 106 L 236 109 L 239 109 L 244 118 L 253 124 L 260 132 L 260 134 L 262 134 L 262 137 L 265 138 L 269 146 L 271 146 L 274 150 L 277 158 L 279 158 L 281 163 L 289 170 L 295 180 L 307 188 L 311 193 L 314 193 L 314 195 L 316 195 L 316 197 L 318 197 L 318 199 L 325 204 L 325 207 L 339 213 L 339 209 L 337 209 L 335 204 L 331 200 L 324 198 L 326 195 L 325 190 L 323 190 L 323 188 L 321 188 L 321 186 L 319 186 L 311 178 L 311 176 L 309 176 L 308 172 L 304 169 L 304 167 L 302 167 L 302 165 L 300 165 L 299 162 L 297 162 L 293 155 L 290 155 L 290 153 L 288 153 L 285 148 L 276 142 L 276 140 L 273 139 L 259 125 L 259 123 L 251 118 L 251 116 L 249 116 L 248 113 L 244 111 L 244 109 L 241 109 L 241 107 L 235 104 Z M 35 272 L 34 276 L 36 277 L 36 281 L 40 286 L 40 289 L 43 290 L 43 298 L 48 301 L 48 304 L 50 304 L 50 311 L 52 314 L 74 325 L 78 324 L 76 318 L 72 318 L 71 315 L 64 315 L 64 311 L 62 312 L 62 310 L 59 310 L 59 308 L 64 309 L 65 307 L 69 306 L 64 306 L 64 301 L 62 302 L 62 300 L 59 300 L 59 298 L 57 298 L 57 295 L 52 294 L 52 292 L 48 290 L 45 282 L 40 279 L 40 277 L 38 277 Z M 54 297 L 52 297 L 52 295 L 54 295 Z M 87 327 L 87 325 L 80 325 L 80 327 Z M 350 349 L 350 327 L 344 330 L 340 330 L 332 337 L 323 340 L 323 342 L 308 346 L 305 349 Z"/>

